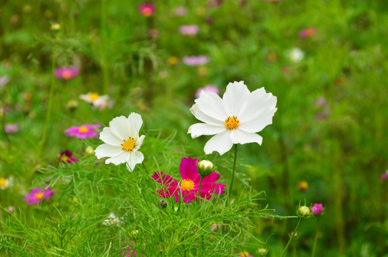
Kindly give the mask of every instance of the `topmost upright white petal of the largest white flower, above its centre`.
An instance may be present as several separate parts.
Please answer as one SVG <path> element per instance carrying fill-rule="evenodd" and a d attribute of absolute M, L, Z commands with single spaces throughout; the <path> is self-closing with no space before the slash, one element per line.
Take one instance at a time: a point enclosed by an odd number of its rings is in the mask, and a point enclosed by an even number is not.
<path fill-rule="evenodd" d="M 223 95 L 223 104 L 225 105 L 225 109 L 228 110 L 228 116 L 238 116 L 240 109 L 249 96 L 250 91 L 245 86 L 244 81 L 229 83 Z"/>

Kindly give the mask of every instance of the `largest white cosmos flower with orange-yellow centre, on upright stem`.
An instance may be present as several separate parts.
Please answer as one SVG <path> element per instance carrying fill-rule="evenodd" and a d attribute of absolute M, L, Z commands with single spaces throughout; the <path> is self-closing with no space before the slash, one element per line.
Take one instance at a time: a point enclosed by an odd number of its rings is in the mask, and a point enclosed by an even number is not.
<path fill-rule="evenodd" d="M 251 93 L 244 81 L 229 83 L 223 99 L 218 94 L 202 91 L 190 111 L 205 123 L 191 125 L 188 133 L 192 138 L 215 135 L 205 144 L 206 154 L 218 151 L 223 155 L 234 143 L 261 145 L 262 137 L 257 132 L 272 124 L 276 101 L 264 88 Z"/>

